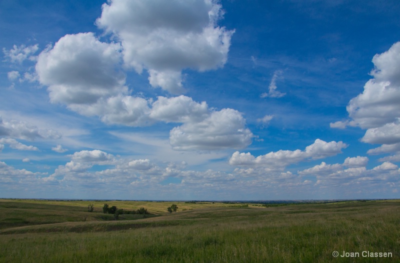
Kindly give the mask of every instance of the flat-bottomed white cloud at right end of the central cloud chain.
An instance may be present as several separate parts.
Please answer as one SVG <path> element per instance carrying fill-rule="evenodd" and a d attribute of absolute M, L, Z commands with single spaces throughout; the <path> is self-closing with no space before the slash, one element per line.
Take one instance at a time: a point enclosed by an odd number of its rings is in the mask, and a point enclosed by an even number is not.
<path fill-rule="evenodd" d="M 213 111 L 199 122 L 185 122 L 169 132 L 169 143 L 176 150 L 243 148 L 254 135 L 245 128 L 245 119 L 231 108 Z"/>

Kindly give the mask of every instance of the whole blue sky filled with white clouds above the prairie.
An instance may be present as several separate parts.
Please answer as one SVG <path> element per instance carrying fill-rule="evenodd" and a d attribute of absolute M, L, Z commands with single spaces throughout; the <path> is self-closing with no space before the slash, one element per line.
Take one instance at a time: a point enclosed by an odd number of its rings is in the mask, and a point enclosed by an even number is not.
<path fill-rule="evenodd" d="M 0 197 L 398 198 L 397 0 L 2 0 Z"/>

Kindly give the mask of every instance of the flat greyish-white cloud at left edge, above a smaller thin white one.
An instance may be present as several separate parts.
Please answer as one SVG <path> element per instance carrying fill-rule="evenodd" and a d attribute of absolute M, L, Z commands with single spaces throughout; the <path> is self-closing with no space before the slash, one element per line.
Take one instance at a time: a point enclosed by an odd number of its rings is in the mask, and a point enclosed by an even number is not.
<path fill-rule="evenodd" d="M 59 139 L 61 133 L 54 129 L 39 129 L 37 126 L 18 120 L 3 120 L 0 116 L 0 136 L 34 140 L 35 138 Z"/>

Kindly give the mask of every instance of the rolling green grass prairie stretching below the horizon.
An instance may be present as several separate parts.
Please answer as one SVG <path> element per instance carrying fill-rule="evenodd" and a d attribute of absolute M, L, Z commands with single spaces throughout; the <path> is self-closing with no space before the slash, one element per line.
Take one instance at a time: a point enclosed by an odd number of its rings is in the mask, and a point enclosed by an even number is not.
<path fill-rule="evenodd" d="M 87 212 L 89 203 L 94 212 Z M 0 262 L 400 261 L 399 200 L 267 208 L 107 201 L 158 215 L 126 214 L 117 221 L 103 217 L 103 203 L 0 200 Z M 179 209 L 169 214 L 172 203 Z M 341 257 L 343 251 L 359 256 Z M 392 256 L 363 257 L 362 251 Z"/>

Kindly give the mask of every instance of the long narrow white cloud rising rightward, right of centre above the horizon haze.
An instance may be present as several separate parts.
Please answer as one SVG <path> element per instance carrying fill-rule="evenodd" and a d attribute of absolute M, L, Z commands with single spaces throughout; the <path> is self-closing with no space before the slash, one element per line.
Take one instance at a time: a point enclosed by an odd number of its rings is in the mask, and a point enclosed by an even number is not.
<path fill-rule="evenodd" d="M 230 165 L 271 166 L 284 167 L 291 163 L 297 163 L 306 159 L 320 159 L 341 153 L 341 149 L 347 147 L 342 141 L 326 142 L 316 139 L 314 143 L 305 147 L 305 150 L 278 150 L 265 155 L 254 157 L 250 152 L 234 152 L 229 159 Z"/>

